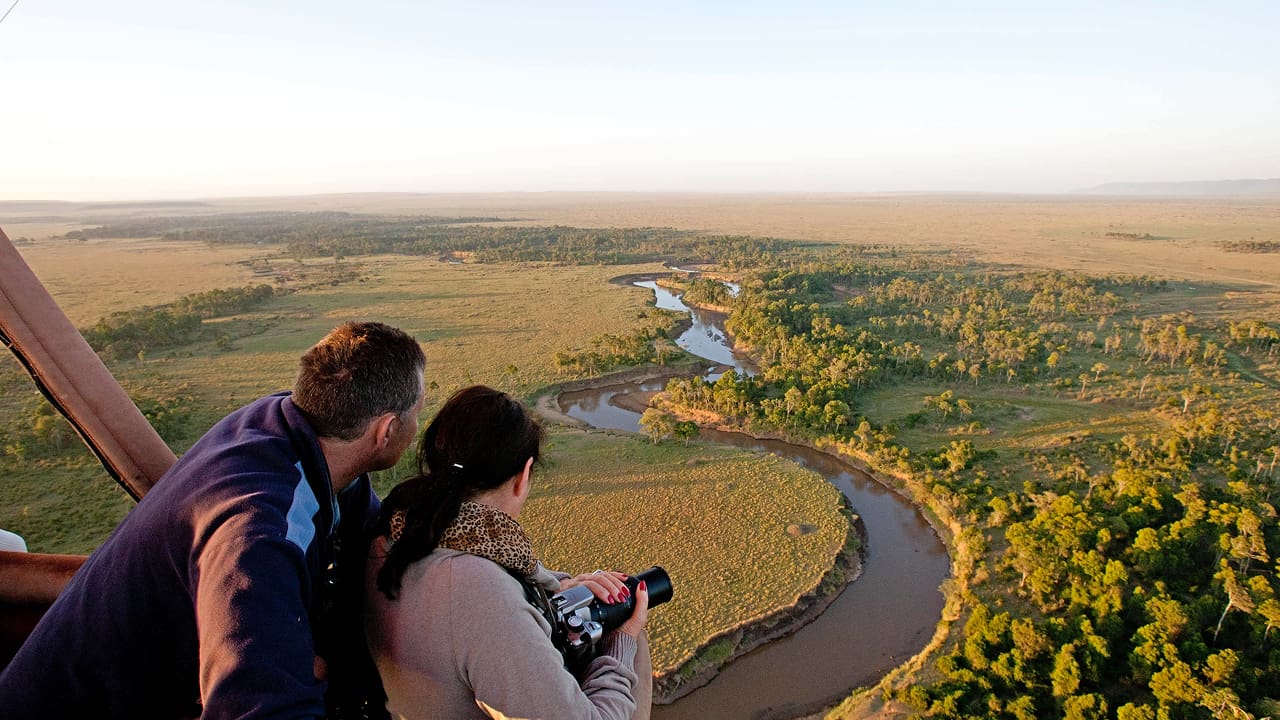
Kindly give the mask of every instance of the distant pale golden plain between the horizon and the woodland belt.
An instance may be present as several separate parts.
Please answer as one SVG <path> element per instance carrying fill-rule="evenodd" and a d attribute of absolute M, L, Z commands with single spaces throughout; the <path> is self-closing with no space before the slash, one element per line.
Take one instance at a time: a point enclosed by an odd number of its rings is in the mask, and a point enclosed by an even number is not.
<path fill-rule="evenodd" d="M 1149 273 L 1280 290 L 1280 256 L 1228 252 L 1217 245 L 1280 238 L 1280 200 L 1275 197 L 380 193 L 210 200 L 205 206 L 206 211 L 224 213 L 269 209 L 485 215 L 576 227 L 675 227 L 943 251 L 1025 268 Z M 0 218 L 4 215 L 0 208 Z M 1147 234 L 1151 240 L 1142 238 Z"/>

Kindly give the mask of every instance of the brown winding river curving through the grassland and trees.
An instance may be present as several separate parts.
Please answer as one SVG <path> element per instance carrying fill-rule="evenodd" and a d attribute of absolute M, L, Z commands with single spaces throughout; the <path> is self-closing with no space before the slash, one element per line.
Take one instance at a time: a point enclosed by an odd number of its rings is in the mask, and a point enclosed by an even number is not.
<path fill-rule="evenodd" d="M 676 341 L 680 347 L 716 363 L 721 372 L 733 366 L 754 374 L 750 360 L 731 350 L 722 315 L 690 309 L 652 281 L 635 284 L 652 288 L 658 307 L 691 314 L 692 325 Z M 664 384 L 563 393 L 561 410 L 598 428 L 637 432 L 640 415 L 613 398 Z M 947 578 L 948 561 L 914 506 L 865 473 L 808 447 L 709 429 L 700 437 L 773 452 L 820 473 L 863 518 L 868 548 L 861 578 L 814 621 L 730 662 L 710 683 L 676 702 L 655 706 L 655 720 L 795 717 L 874 683 L 924 647 L 942 612 L 938 585 Z"/>

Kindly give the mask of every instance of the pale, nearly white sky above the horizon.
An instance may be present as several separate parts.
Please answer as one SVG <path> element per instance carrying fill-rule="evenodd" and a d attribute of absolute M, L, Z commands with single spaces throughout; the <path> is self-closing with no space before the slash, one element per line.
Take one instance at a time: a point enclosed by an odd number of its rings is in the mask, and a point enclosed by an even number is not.
<path fill-rule="evenodd" d="M 1274 178 L 1277 35 L 1276 0 L 20 0 L 0 200 Z"/>

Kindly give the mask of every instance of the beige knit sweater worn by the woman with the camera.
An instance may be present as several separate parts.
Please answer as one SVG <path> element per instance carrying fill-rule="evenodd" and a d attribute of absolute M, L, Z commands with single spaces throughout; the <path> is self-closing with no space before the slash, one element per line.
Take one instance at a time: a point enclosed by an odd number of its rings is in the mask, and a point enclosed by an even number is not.
<path fill-rule="evenodd" d="M 436 548 L 406 569 L 389 601 L 374 582 L 384 542 L 375 541 L 369 562 L 365 629 L 392 717 L 632 717 L 637 678 L 630 635 L 611 633 L 579 685 L 552 646 L 549 624 L 498 564 Z M 558 588 L 554 575 L 541 566 L 539 573 Z M 648 703 L 649 678 L 643 680 Z M 646 717 L 648 707 L 639 715 Z"/>

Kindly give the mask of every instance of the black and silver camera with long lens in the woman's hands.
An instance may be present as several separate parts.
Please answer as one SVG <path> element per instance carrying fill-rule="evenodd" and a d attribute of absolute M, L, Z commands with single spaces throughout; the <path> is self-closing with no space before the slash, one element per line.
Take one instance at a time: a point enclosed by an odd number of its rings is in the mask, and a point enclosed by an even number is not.
<path fill-rule="evenodd" d="M 605 605 L 586 585 L 573 585 L 550 596 L 552 642 L 564 656 L 564 665 L 579 670 L 596 655 L 600 639 L 618 629 L 636 609 L 636 585 L 644 580 L 649 591 L 649 607 L 671 600 L 671 577 L 654 565 L 625 580 L 631 594 L 626 601 Z"/>

